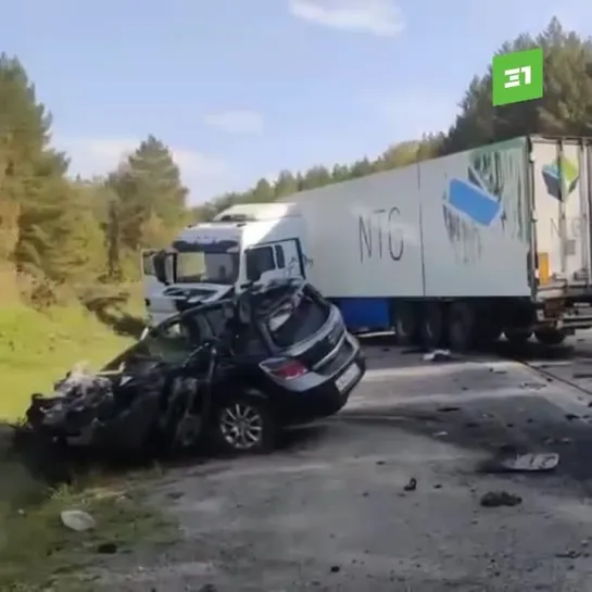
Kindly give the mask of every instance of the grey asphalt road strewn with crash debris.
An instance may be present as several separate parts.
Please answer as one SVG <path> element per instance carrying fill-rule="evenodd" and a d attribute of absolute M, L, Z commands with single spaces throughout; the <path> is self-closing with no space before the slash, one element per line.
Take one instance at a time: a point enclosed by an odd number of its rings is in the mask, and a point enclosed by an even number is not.
<path fill-rule="evenodd" d="M 592 590 L 592 339 L 574 345 L 531 345 L 528 365 L 503 345 L 445 363 L 367 345 L 369 370 L 335 418 L 267 457 L 172 471 L 158 499 L 185 541 L 115 558 L 105 590 Z M 484 469 L 514 450 L 560 462 Z M 521 503 L 481 507 L 494 490 Z"/>

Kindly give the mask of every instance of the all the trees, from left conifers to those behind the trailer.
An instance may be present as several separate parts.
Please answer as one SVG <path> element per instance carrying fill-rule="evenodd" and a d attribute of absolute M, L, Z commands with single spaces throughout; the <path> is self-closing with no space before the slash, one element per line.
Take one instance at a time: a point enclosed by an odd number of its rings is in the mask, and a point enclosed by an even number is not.
<path fill-rule="evenodd" d="M 34 303 L 59 288 L 138 279 L 139 251 L 166 244 L 189 222 L 211 219 L 234 203 L 291 193 L 388 171 L 526 135 L 590 135 L 592 41 L 553 18 L 537 37 L 521 35 L 499 53 L 542 47 L 542 99 L 493 108 L 491 68 L 475 76 L 448 131 L 388 148 L 378 159 L 284 171 L 243 192 L 189 207 L 188 189 L 163 141 L 149 136 L 101 178 L 71 178 L 67 154 L 51 147 L 51 116 L 16 58 L 0 56 L 0 297 L 17 278 Z M 363 199 L 363 197 L 361 197 Z M 26 282 L 23 284 L 23 278 Z M 20 284 L 21 282 L 21 284 Z"/>

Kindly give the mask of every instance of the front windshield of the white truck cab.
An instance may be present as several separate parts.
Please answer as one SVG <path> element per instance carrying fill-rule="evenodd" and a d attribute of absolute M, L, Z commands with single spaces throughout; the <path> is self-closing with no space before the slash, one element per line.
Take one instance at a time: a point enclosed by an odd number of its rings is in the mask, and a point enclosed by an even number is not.
<path fill-rule="evenodd" d="M 184 251 L 177 253 L 177 284 L 222 284 L 231 286 L 237 281 L 238 253 L 209 253 Z"/>

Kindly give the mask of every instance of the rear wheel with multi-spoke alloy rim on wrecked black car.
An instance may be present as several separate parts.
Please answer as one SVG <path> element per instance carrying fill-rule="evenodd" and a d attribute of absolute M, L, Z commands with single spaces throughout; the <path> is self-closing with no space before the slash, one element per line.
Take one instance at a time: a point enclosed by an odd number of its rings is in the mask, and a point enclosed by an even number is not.
<path fill-rule="evenodd" d="M 222 403 L 215 413 L 214 434 L 218 448 L 230 454 L 270 452 L 277 426 L 267 402 L 237 396 Z"/>

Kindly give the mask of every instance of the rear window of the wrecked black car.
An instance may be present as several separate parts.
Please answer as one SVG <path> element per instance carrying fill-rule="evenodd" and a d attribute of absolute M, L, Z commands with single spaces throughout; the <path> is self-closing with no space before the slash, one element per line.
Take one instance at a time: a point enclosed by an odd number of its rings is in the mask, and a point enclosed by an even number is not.
<path fill-rule="evenodd" d="M 273 340 L 287 348 L 316 333 L 329 316 L 329 306 L 305 289 L 286 299 L 267 319 Z"/>

